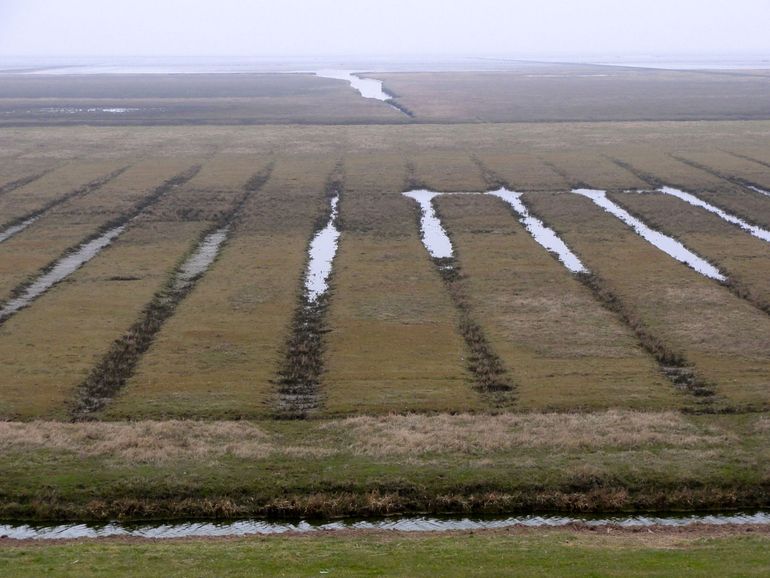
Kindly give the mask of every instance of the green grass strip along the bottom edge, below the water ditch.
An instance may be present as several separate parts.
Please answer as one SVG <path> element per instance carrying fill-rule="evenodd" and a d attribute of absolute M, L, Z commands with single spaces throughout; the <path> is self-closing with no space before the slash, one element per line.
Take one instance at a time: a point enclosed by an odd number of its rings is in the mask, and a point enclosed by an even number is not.
<path fill-rule="evenodd" d="M 226 540 L 0 541 L 4 576 L 766 576 L 770 535 L 544 530 Z"/>

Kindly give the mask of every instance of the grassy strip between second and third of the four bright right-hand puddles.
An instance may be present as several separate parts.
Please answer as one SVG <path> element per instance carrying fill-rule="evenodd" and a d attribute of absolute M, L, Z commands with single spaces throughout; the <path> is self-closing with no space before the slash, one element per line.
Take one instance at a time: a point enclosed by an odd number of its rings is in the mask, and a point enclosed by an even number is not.
<path fill-rule="evenodd" d="M 530 194 L 697 410 L 766 407 L 770 320 L 724 286 L 665 254 L 581 195 Z M 706 213 L 708 214 L 708 213 Z M 752 239 L 747 237 L 747 239 Z M 669 372 L 668 367 L 671 367 Z M 683 399 L 683 401 L 687 401 Z"/>

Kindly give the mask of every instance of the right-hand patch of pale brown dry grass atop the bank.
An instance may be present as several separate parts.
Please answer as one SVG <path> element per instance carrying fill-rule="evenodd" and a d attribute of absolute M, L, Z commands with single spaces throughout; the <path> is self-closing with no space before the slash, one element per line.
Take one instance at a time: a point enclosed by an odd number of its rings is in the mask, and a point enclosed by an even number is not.
<path fill-rule="evenodd" d="M 716 428 L 704 431 L 674 412 L 611 410 L 593 414 L 359 416 L 330 422 L 354 453 L 385 456 L 458 452 L 484 454 L 512 449 L 639 449 L 664 445 L 706 449 L 734 441 Z"/>

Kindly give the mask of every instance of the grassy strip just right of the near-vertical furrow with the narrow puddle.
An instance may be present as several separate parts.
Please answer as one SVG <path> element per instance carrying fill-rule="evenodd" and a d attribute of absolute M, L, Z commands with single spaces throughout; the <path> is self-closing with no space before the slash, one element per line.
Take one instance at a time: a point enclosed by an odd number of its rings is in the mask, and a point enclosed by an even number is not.
<path fill-rule="evenodd" d="M 344 240 L 334 263 L 324 416 L 483 411 L 457 312 L 426 259 L 402 154 L 345 157 Z"/>

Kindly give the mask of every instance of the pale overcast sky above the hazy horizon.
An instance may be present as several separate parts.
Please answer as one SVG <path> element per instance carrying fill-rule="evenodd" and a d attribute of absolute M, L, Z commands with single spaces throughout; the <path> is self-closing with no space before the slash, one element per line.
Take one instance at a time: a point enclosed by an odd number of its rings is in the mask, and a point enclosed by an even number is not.
<path fill-rule="evenodd" d="M 770 55 L 770 0 L 0 0 L 2 56 Z"/>

